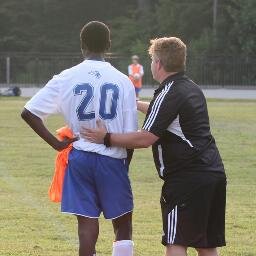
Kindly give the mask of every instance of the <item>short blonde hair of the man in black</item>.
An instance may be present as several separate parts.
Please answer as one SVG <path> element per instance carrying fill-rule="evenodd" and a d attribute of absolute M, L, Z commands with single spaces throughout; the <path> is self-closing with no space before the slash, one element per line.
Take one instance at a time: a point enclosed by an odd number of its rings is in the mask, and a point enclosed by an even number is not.
<path fill-rule="evenodd" d="M 150 40 L 149 55 L 157 57 L 166 72 L 181 72 L 186 68 L 187 47 L 177 37 Z"/>

